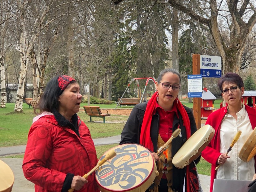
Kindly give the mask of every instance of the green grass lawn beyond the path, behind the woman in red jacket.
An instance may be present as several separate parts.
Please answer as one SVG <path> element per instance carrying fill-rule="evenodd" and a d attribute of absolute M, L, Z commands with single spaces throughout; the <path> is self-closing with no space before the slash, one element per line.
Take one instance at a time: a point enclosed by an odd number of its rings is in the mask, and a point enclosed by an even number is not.
<path fill-rule="evenodd" d="M 33 108 L 23 103 L 23 113 L 15 113 L 14 103 L 7 103 L 6 108 L 0 108 L 0 147 L 26 145 L 28 131 L 36 116 Z M 90 117 L 84 112 L 78 112 L 78 116 L 88 126 L 92 138 L 104 138 L 120 135 L 128 116 L 111 115 L 106 117 L 106 121 L 115 121 L 120 123 L 95 123 L 89 122 Z M 92 117 L 92 121 L 103 121 L 103 118 Z"/>

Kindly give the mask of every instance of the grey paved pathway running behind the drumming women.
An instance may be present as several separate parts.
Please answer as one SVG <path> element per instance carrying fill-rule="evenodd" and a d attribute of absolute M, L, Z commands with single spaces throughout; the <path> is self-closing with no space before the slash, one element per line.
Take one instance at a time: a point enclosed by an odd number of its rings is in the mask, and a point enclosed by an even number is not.
<path fill-rule="evenodd" d="M 94 139 L 94 145 L 106 145 L 112 143 L 119 143 L 121 136 L 113 136 L 108 138 L 100 138 Z M 12 146 L 12 147 L 0 147 L 0 156 L 10 155 L 10 154 L 17 154 L 17 153 L 24 153 L 25 152 L 25 145 L 21 146 Z M 12 191 L 13 192 L 34 192 L 34 184 L 30 181 L 26 180 L 23 172 L 22 172 L 22 161 L 23 159 L 18 158 L 0 158 L 0 160 L 4 161 L 9 167 L 12 169 L 14 174 L 14 184 Z M 210 190 L 210 176 L 206 175 L 199 175 L 201 186 L 204 192 L 209 192 Z"/>

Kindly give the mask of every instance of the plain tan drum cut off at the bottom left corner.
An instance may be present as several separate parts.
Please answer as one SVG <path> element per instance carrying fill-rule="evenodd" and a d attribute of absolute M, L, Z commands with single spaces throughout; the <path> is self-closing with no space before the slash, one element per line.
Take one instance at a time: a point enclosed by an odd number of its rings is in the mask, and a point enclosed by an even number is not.
<path fill-rule="evenodd" d="M 0 160 L 0 192 L 11 192 L 14 175 L 11 168 Z"/>

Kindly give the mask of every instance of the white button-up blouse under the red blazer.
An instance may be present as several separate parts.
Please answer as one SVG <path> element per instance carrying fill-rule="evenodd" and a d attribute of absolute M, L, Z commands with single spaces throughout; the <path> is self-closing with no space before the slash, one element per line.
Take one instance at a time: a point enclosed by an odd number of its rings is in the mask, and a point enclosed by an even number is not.
<path fill-rule="evenodd" d="M 238 130 L 242 134 L 231 151 L 229 151 L 228 156 L 230 158 L 228 158 L 225 164 L 220 165 L 216 177 L 217 179 L 252 180 L 254 175 L 254 158 L 245 163 L 238 157 L 245 141 L 252 133 L 252 125 L 244 107 L 236 115 L 237 120 L 227 113 L 220 126 L 220 153 L 227 153 Z"/>

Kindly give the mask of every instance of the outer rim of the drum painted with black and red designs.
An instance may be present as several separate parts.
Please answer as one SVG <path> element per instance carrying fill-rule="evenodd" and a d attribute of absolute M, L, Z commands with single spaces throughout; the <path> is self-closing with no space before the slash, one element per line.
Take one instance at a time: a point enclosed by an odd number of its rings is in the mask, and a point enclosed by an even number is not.
<path fill-rule="evenodd" d="M 142 146 L 142 145 L 140 145 L 140 144 L 137 144 L 137 143 L 126 143 L 126 144 L 117 145 L 117 146 L 115 146 L 115 147 L 112 147 L 112 148 L 108 149 L 103 155 L 105 155 L 109 150 L 113 150 L 114 148 L 116 148 L 116 147 L 118 147 L 118 146 L 124 146 L 124 145 L 138 145 L 138 146 L 140 146 L 140 147 L 142 147 L 142 148 L 145 148 L 144 146 Z M 147 149 L 147 148 L 145 148 L 145 149 Z M 147 150 L 148 150 L 148 149 L 147 149 Z M 149 151 L 149 150 L 148 150 L 148 151 Z M 152 154 L 151 154 L 150 151 L 149 151 L 149 153 L 150 153 L 150 156 L 152 157 L 153 165 L 152 165 L 152 168 L 151 168 L 151 172 L 148 173 L 147 179 L 151 176 L 152 172 L 154 171 L 154 167 L 155 167 L 155 165 L 154 165 L 154 162 L 155 162 L 154 157 L 152 156 Z M 101 155 L 100 158 L 101 158 L 103 155 Z M 99 158 L 99 160 L 100 160 L 100 158 Z M 131 191 L 131 190 L 133 190 L 133 189 L 135 189 L 135 188 L 138 188 L 138 187 L 142 186 L 142 185 L 147 181 L 147 179 L 145 179 L 145 180 L 144 180 L 143 182 L 141 182 L 140 184 L 138 184 L 138 185 L 136 185 L 136 186 L 134 186 L 134 187 L 132 187 L 132 188 L 129 188 L 129 189 L 115 190 L 115 189 L 106 188 L 106 187 L 100 185 L 100 183 L 98 182 L 98 177 L 96 177 L 96 173 L 95 173 L 95 179 L 96 179 L 97 184 L 98 184 L 101 188 L 106 189 L 106 190 L 108 190 L 108 191 L 111 190 L 111 191 L 117 191 L 117 192 L 118 192 L 118 191 L 124 191 L 124 192 L 126 192 L 126 191 Z"/>

